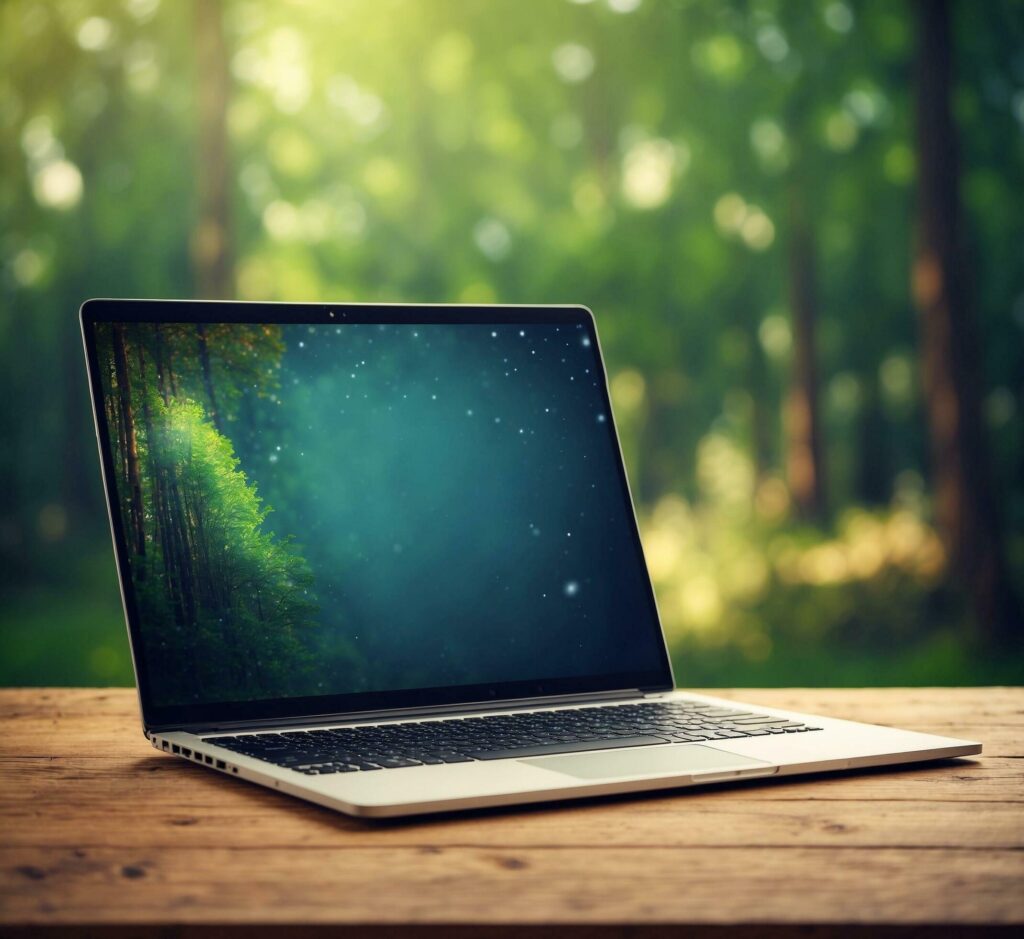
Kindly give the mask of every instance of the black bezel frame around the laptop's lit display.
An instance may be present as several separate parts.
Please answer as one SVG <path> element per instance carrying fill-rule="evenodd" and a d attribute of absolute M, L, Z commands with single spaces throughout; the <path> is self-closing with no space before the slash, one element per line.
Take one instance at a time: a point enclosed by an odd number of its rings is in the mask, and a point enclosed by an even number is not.
<path fill-rule="evenodd" d="M 132 661 L 138 684 L 142 720 L 146 730 L 185 729 L 190 726 L 215 727 L 243 723 L 276 722 L 286 719 L 313 721 L 334 716 L 358 716 L 364 712 L 408 711 L 418 708 L 476 705 L 488 701 L 514 701 L 521 698 L 539 698 L 577 694 L 598 694 L 628 689 L 662 691 L 674 687 L 672 666 L 665 636 L 660 627 L 657 606 L 650 577 L 646 584 L 646 610 L 640 610 L 637 622 L 647 621 L 656 632 L 654 638 L 660 652 L 659 667 L 649 672 L 621 673 L 615 675 L 503 682 L 487 685 L 460 685 L 440 688 L 403 689 L 398 691 L 373 691 L 355 694 L 333 694 L 315 697 L 268 698 L 255 701 L 223 701 L 203 705 L 156 705 L 150 693 L 148 669 L 142 654 L 140 624 L 138 622 L 133 584 L 129 575 L 127 540 L 122 526 L 110 430 L 106 426 L 103 392 L 100 383 L 95 326 L 100 323 L 239 323 L 281 325 L 339 325 L 339 324 L 453 324 L 477 325 L 529 325 L 564 324 L 582 326 L 588 331 L 601 364 L 600 393 L 607 414 L 612 415 L 608 397 L 607 378 L 598 345 L 593 313 L 584 306 L 478 306 L 450 304 L 352 304 L 352 303 L 251 303 L 242 301 L 177 301 L 177 300 L 89 300 L 80 311 L 82 336 L 85 344 L 89 385 L 92 397 L 99 459 L 103 486 L 106 495 L 108 514 L 114 540 L 114 552 L 121 584 L 125 620 L 128 625 Z M 631 509 L 628 513 L 629 537 L 646 572 L 636 509 L 630 494 L 629 481 L 622 458 L 614 417 L 607 422 L 608 433 L 617 455 L 618 479 L 623 495 Z"/>

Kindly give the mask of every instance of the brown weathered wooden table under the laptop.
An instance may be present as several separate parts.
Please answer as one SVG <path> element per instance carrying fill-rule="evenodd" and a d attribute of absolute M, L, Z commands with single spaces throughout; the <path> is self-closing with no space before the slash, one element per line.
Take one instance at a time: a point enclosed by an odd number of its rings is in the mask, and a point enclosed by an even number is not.
<path fill-rule="evenodd" d="M 1024 689 L 714 693 L 966 736 L 985 753 L 371 823 L 156 753 L 132 690 L 2 690 L 0 935 L 287 925 L 469 937 L 557 925 L 641 937 L 688 925 L 688 936 L 944 936 L 949 925 L 1024 925 Z"/>

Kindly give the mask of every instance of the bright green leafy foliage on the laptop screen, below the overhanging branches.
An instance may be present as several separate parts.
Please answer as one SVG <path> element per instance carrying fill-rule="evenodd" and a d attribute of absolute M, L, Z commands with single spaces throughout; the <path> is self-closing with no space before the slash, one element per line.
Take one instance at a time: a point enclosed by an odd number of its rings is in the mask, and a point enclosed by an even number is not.
<path fill-rule="evenodd" d="M 308 565 L 290 541 L 263 530 L 270 509 L 200 404 L 164 404 L 153 393 L 150 409 L 155 430 L 147 441 L 147 476 L 180 490 L 198 553 L 193 622 L 175 622 L 174 588 L 158 539 L 150 537 L 148 553 L 134 562 L 145 566 L 139 603 L 152 625 L 148 660 L 160 664 L 152 676 L 158 696 L 244 700 L 315 693 L 308 634 L 316 604 Z"/>

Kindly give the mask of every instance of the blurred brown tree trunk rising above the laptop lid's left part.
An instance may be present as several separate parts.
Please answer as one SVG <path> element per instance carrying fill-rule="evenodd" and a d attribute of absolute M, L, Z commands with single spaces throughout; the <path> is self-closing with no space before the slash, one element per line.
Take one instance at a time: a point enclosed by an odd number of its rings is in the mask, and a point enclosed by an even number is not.
<path fill-rule="evenodd" d="M 229 78 L 219 0 L 196 0 L 199 86 L 199 221 L 191 255 L 199 296 L 231 297 L 230 172 L 227 159 Z"/>

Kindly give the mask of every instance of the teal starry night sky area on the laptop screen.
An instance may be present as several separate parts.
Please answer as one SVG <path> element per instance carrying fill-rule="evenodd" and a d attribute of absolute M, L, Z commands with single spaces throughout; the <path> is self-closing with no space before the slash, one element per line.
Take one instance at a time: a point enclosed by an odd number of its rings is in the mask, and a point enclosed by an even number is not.
<path fill-rule="evenodd" d="M 582 327 L 286 326 L 280 387 L 234 439 L 308 560 L 352 687 L 658 667 Z"/>

